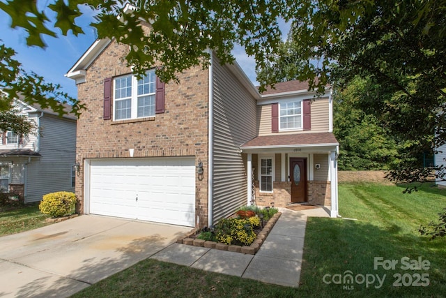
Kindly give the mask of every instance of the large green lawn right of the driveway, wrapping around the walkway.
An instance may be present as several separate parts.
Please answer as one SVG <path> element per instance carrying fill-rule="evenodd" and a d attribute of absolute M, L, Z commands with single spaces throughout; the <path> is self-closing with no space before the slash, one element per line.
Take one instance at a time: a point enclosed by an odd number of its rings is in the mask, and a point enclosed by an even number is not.
<path fill-rule="evenodd" d="M 309 218 L 299 288 L 267 285 L 189 267 L 144 260 L 77 293 L 75 297 L 443 297 L 446 293 L 446 238 L 429 241 L 417 232 L 420 224 L 436 221 L 446 206 L 446 191 L 423 186 L 405 188 L 380 184 L 339 184 L 339 213 L 344 218 Z M 374 258 L 398 260 L 395 269 L 374 269 Z M 401 258 L 422 257 L 427 270 L 403 270 Z M 354 283 L 326 284 L 323 277 L 351 271 L 385 279 L 366 287 Z M 393 286 L 394 274 L 429 274 L 426 287 Z M 330 280 L 330 278 L 329 278 Z M 406 279 L 408 281 L 408 279 Z"/>

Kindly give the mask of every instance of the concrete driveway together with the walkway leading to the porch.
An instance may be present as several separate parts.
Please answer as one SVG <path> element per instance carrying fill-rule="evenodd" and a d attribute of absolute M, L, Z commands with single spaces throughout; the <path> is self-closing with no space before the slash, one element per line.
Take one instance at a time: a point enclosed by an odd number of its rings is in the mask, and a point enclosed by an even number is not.
<path fill-rule="evenodd" d="M 0 297 L 68 297 L 146 258 L 298 287 L 307 216 L 281 209 L 256 255 L 174 243 L 190 228 L 79 216 L 1 237 Z"/>

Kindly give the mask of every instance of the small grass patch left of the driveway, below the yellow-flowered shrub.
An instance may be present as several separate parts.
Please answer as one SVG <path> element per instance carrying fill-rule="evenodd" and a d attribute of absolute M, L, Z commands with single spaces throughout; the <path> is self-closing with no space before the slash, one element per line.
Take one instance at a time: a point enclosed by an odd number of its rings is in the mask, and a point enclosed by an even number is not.
<path fill-rule="evenodd" d="M 49 225 L 38 205 L 0 209 L 0 237 Z"/>

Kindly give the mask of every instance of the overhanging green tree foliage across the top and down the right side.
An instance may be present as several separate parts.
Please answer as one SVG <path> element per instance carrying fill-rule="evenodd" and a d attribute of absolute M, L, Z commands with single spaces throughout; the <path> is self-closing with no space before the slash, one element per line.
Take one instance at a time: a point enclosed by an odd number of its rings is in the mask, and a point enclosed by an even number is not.
<path fill-rule="evenodd" d="M 291 78 L 309 80 L 317 91 L 328 82 L 341 89 L 356 76 L 368 77 L 374 89 L 358 104 L 405 148 L 404 163 L 393 169 L 392 179 L 422 179 L 426 171 L 416 156 L 446 142 L 446 113 L 438 113 L 446 102 L 446 0 L 55 0 L 45 5 L 55 13 L 54 22 L 36 2 L 0 1 L 11 27 L 29 33 L 29 45 L 45 47 L 41 34 L 82 33 L 76 17 L 88 6 L 96 13 L 91 26 L 98 38 L 129 45 L 126 60 L 134 72 L 156 66 L 164 82 L 191 66 L 208 66 L 208 49 L 223 63 L 233 61 L 236 44 L 254 56 L 261 90 Z M 286 43 L 279 17 L 292 22 Z M 151 26 L 148 34 L 143 23 Z M 52 99 L 63 97 L 38 75 L 17 73 L 17 61 L 1 61 L 6 62 L 0 67 L 12 73 L 1 72 L 1 84 L 11 88 L 9 98 L 17 91 L 27 100 L 45 92 L 55 92 Z M 74 106 L 77 112 L 82 107 Z"/>

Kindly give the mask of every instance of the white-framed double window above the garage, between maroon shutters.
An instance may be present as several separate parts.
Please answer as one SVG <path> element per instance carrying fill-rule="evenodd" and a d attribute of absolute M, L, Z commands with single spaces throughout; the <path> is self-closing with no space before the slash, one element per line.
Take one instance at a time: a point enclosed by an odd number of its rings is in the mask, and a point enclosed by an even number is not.
<path fill-rule="evenodd" d="M 148 70 L 141 80 L 134 75 L 114 79 L 114 119 L 155 116 L 156 76 Z"/>

